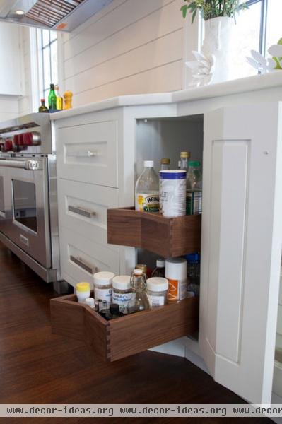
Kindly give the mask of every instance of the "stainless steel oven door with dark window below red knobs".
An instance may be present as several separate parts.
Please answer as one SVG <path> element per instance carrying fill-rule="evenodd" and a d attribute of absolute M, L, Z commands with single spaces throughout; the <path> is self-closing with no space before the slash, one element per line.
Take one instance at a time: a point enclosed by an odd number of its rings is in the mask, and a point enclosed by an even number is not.
<path fill-rule="evenodd" d="M 0 230 L 42 266 L 51 267 L 47 158 L 0 160 Z"/>

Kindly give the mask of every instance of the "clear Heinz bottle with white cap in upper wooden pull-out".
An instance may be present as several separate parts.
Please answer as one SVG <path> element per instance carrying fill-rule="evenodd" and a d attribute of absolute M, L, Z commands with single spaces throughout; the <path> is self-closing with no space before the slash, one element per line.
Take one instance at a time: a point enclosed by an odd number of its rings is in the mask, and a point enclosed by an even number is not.
<path fill-rule="evenodd" d="M 153 169 L 153 160 L 144 161 L 144 170 L 135 187 L 135 210 L 158 212 L 160 209 L 158 175 Z"/>

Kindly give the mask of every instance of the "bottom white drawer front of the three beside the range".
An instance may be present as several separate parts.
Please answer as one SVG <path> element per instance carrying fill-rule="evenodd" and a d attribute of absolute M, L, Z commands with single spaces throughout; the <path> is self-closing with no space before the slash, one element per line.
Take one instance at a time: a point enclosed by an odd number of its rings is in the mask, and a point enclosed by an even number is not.
<path fill-rule="evenodd" d="M 119 252 L 90 241 L 69 228 L 60 228 L 59 239 L 61 271 L 75 281 L 93 284 L 95 272 L 119 273 Z"/>

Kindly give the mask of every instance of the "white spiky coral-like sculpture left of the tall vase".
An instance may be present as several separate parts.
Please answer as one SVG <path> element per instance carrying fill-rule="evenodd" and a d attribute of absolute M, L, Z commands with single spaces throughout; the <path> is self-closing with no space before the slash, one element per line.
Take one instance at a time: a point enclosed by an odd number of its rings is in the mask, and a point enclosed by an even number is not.
<path fill-rule="evenodd" d="M 204 56 L 204 54 L 192 51 L 195 61 L 187 61 L 186 66 L 192 70 L 193 77 L 197 80 L 197 84 L 206 84 L 208 80 L 211 80 L 213 75 L 213 69 L 216 62 L 216 58 L 211 56 Z"/>

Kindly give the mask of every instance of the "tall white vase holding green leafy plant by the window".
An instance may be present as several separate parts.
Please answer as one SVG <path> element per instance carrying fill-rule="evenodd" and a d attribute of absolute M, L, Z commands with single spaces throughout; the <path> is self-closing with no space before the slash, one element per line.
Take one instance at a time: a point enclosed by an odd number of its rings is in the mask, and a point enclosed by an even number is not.
<path fill-rule="evenodd" d="M 210 83 L 220 83 L 232 79 L 232 34 L 234 18 L 220 16 L 205 21 L 205 36 L 201 52 L 215 59 Z"/>

